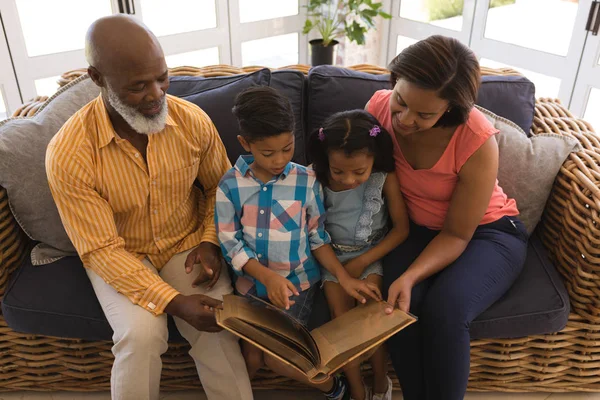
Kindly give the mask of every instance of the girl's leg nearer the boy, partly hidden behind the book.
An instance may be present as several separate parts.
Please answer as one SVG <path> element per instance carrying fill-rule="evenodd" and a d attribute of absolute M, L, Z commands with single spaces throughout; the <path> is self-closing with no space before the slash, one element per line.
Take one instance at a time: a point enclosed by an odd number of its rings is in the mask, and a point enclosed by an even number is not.
<path fill-rule="evenodd" d="M 326 281 L 323 283 L 325 298 L 329 304 L 331 318 L 335 319 L 356 307 L 356 301 L 350 297 L 342 286 L 336 282 Z M 350 385 L 350 394 L 354 400 L 363 400 L 366 396 L 365 386 L 360 373 L 360 361 L 355 360 L 342 368 L 348 384 Z"/>

